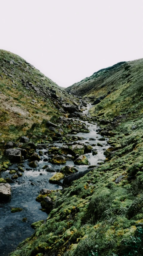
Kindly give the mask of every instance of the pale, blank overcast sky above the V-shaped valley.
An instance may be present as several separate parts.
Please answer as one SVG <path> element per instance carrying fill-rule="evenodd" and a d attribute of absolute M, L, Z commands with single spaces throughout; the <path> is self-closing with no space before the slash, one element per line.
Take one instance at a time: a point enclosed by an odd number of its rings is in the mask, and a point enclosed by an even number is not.
<path fill-rule="evenodd" d="M 1 0 L 0 49 L 61 87 L 143 58 L 143 0 Z"/>

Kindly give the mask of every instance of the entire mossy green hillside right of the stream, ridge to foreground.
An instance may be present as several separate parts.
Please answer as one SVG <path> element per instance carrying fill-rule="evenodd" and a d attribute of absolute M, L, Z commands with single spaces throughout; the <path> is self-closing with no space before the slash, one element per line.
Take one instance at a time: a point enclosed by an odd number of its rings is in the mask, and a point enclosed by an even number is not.
<path fill-rule="evenodd" d="M 111 147 L 104 164 L 64 188 L 47 222 L 10 256 L 143 255 L 142 69 L 143 59 L 118 63 L 66 89 L 92 102 L 106 95 L 89 122 L 100 123 Z"/>

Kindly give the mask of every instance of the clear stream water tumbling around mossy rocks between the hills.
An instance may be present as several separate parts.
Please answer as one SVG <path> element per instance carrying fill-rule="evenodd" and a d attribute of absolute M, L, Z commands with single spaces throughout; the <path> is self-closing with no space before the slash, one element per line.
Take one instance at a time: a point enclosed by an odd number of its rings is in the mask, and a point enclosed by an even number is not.
<path fill-rule="evenodd" d="M 87 106 L 84 113 L 88 114 L 88 110 L 91 105 Z M 92 153 L 85 154 L 88 158 L 90 165 L 98 165 L 99 162 L 103 162 L 105 159 L 104 150 L 109 147 L 107 145 L 107 139 L 105 141 L 99 141 L 102 136 L 97 134 L 96 130 L 99 128 L 96 123 L 88 123 L 85 121 L 90 133 L 78 133 L 77 136 L 83 137 L 82 143 L 89 142 L 90 144 L 97 144 L 100 142 L 103 147 L 94 146 L 98 152 L 97 155 Z M 90 140 L 93 138 L 93 140 Z M 63 144 L 54 142 L 52 145 L 61 147 Z M 36 150 L 37 152 L 39 150 Z M 46 151 L 46 149 L 43 149 Z M 39 161 L 39 166 L 34 170 L 25 170 L 22 177 L 19 177 L 15 183 L 11 185 L 11 199 L 7 203 L 0 203 L 0 255 L 7 256 L 10 251 L 13 251 L 24 239 L 31 236 L 34 230 L 31 228 L 33 222 L 39 220 L 46 220 L 47 214 L 40 210 L 40 203 L 36 202 L 36 197 L 39 195 L 41 188 L 48 188 L 50 190 L 62 189 L 61 186 L 49 183 L 49 179 L 53 176 L 56 169 L 61 169 L 63 165 L 53 165 L 48 162 L 44 162 L 43 159 L 46 156 L 42 156 Z M 48 158 L 48 156 L 47 156 Z M 53 169 L 53 173 L 46 172 L 41 169 L 44 165 L 49 165 Z M 28 166 L 28 160 L 23 163 L 24 169 Z M 67 160 L 65 165 L 76 166 L 72 160 Z M 15 169 L 17 164 L 13 164 L 10 169 Z M 79 172 L 87 169 L 88 166 L 81 165 L 76 166 Z M 10 170 L 9 169 L 9 170 Z M 1 173 L 1 177 L 11 177 L 9 170 Z M 20 207 L 23 210 L 21 212 L 11 213 L 11 208 Z M 23 218 L 27 218 L 26 222 L 22 221 Z"/>

